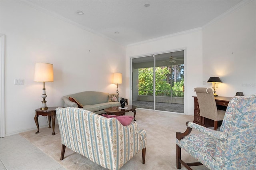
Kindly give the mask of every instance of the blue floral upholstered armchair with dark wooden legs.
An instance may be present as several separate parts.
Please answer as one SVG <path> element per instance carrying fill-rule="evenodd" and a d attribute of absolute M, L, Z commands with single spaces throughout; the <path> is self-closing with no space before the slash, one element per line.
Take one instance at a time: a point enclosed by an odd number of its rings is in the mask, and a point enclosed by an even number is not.
<path fill-rule="evenodd" d="M 210 170 L 256 169 L 256 94 L 233 97 L 227 107 L 220 131 L 187 122 L 184 133 L 176 132 L 177 168 L 183 164 L 205 165 Z M 199 134 L 190 134 L 192 129 Z M 199 162 L 181 160 L 181 148 Z"/>

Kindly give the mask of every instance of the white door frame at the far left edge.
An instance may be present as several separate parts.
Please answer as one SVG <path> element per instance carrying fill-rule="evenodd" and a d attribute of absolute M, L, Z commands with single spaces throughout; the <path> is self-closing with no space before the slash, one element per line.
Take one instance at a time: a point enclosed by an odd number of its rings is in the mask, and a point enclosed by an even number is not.
<path fill-rule="evenodd" d="M 1 64 L 0 64 L 0 137 L 5 137 L 5 36 L 0 35 L 0 55 L 1 55 Z"/>

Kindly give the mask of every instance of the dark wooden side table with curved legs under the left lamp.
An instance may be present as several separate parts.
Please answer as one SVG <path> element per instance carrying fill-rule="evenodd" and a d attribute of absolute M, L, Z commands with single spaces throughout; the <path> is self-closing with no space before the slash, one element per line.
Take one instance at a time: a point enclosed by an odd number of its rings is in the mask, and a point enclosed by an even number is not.
<path fill-rule="evenodd" d="M 48 116 L 48 121 L 49 121 L 49 127 L 48 128 L 51 128 L 51 119 L 52 119 L 52 135 L 55 135 L 55 132 L 54 132 L 54 127 L 55 127 L 55 116 L 56 116 L 56 111 L 55 109 L 58 108 L 58 107 L 49 107 L 47 110 L 41 110 L 40 108 L 39 109 L 36 109 L 36 115 L 35 115 L 35 122 L 36 122 L 36 127 L 37 127 L 37 132 L 39 132 L 39 124 L 38 124 L 38 116 L 39 115 L 42 115 L 42 116 Z"/>

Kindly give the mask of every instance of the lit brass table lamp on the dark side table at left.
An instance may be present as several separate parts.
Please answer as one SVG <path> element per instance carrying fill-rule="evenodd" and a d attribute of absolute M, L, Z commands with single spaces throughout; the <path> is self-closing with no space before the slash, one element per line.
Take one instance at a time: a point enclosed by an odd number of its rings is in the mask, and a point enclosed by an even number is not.
<path fill-rule="evenodd" d="M 34 81 L 38 82 L 53 82 L 53 65 L 49 63 L 36 63 L 35 65 L 35 74 L 34 74 Z M 42 94 L 42 107 L 41 110 L 47 110 L 48 107 L 46 106 L 47 97 L 45 93 L 45 87 L 43 86 L 43 94 Z"/>

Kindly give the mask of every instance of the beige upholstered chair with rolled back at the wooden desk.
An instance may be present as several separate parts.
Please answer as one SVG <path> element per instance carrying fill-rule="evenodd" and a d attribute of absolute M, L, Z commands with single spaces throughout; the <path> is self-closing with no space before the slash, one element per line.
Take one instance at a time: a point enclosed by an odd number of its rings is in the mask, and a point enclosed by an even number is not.
<path fill-rule="evenodd" d="M 218 121 L 222 121 L 225 111 L 218 110 L 216 101 L 212 93 L 212 89 L 204 87 L 194 88 L 200 108 L 200 125 L 202 125 L 203 117 L 214 121 L 214 130 L 218 128 Z"/>

